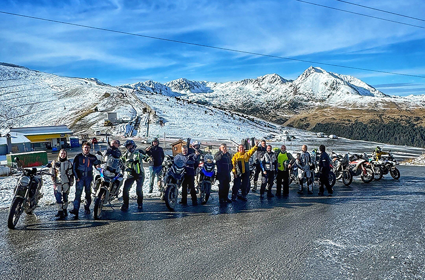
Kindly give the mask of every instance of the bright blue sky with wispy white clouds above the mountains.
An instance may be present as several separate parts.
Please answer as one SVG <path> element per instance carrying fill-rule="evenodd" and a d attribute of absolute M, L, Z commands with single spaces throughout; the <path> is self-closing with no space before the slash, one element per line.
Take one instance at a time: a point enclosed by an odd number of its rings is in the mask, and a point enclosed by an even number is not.
<path fill-rule="evenodd" d="M 310 0 L 425 26 L 334 0 Z M 352 0 L 425 18 L 423 0 Z M 0 0 L 0 10 L 149 36 L 297 59 L 425 76 L 425 29 L 294 0 Z M 247 55 L 0 14 L 0 61 L 118 85 L 180 77 L 229 81 L 278 73 L 295 79 L 311 63 Z M 425 78 L 319 66 L 387 94 L 425 93 Z"/>

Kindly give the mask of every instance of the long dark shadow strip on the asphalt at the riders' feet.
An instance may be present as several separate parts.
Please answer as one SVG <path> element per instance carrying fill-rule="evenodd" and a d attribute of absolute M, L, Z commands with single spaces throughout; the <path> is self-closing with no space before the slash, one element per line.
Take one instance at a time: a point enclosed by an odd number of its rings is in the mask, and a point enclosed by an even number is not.
<path fill-rule="evenodd" d="M 41 212 L 42 218 L 32 224 L 28 220 L 23 228 L 18 226 L 17 229 L 23 230 L 68 230 L 76 228 L 88 228 L 103 226 L 120 221 L 150 221 L 150 220 L 166 220 L 181 218 L 194 215 L 221 215 L 233 213 L 255 213 L 268 211 L 272 208 L 296 208 L 306 207 L 313 204 L 343 204 L 343 203 L 366 203 L 373 200 L 412 200 L 414 197 L 425 195 L 425 191 L 421 185 L 425 181 L 421 177 L 404 176 L 400 180 L 389 179 L 385 177 L 380 181 L 371 183 L 363 183 L 356 179 L 350 186 L 345 186 L 341 182 L 337 182 L 334 186 L 334 196 L 317 196 L 318 186 L 313 187 L 313 194 L 300 195 L 297 194 L 297 186 L 289 186 L 288 197 L 271 197 L 260 198 L 258 192 L 249 192 L 248 201 L 237 200 L 233 203 L 218 203 L 218 195 L 216 192 L 211 193 L 208 202 L 205 205 L 192 206 L 190 198 L 187 205 L 177 204 L 174 211 L 169 211 L 164 201 L 158 198 L 145 198 L 143 209 L 137 209 L 135 200 L 130 200 L 130 207 L 127 211 L 119 210 L 120 201 L 116 200 L 111 207 L 104 207 L 102 217 L 94 220 L 93 215 L 84 214 L 80 211 L 79 219 L 74 220 L 73 215 L 69 214 L 67 218 L 56 220 L 53 215 L 55 211 L 53 207 L 45 209 Z M 273 193 L 275 188 L 273 188 Z M 325 190 L 326 195 L 326 190 Z M 44 222 L 47 216 L 47 221 Z"/>

